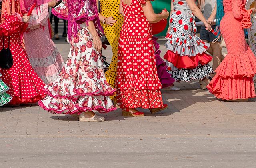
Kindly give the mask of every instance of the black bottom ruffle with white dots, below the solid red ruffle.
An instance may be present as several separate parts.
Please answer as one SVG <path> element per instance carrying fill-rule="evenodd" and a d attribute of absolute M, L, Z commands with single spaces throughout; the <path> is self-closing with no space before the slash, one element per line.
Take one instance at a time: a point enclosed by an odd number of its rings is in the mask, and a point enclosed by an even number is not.
<path fill-rule="evenodd" d="M 201 65 L 200 63 L 193 69 L 178 69 L 168 62 L 168 72 L 176 81 L 190 82 L 191 80 L 200 80 L 213 73 L 209 64 Z"/>

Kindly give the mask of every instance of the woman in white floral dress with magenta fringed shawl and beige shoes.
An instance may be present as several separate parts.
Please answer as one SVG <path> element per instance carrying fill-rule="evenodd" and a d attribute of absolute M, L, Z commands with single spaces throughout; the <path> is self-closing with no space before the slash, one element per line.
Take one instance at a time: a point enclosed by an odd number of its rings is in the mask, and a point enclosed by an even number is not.
<path fill-rule="evenodd" d="M 101 61 L 100 21 L 96 0 L 68 0 L 70 53 L 60 76 L 45 87 L 39 105 L 52 113 L 79 115 L 80 121 L 104 121 L 94 111 L 115 110 Z"/>

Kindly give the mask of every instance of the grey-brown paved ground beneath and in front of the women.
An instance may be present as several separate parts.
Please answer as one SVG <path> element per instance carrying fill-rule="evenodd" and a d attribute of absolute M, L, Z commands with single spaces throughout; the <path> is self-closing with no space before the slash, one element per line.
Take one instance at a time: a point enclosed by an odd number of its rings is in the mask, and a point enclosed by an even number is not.
<path fill-rule="evenodd" d="M 63 58 L 69 44 L 56 44 Z M 164 46 L 161 45 L 162 55 Z M 108 62 L 110 47 L 103 51 Z M 37 104 L 0 108 L 0 167 L 255 168 L 256 99 L 220 102 L 197 81 L 162 91 L 168 109 L 105 122 L 78 122 Z"/>

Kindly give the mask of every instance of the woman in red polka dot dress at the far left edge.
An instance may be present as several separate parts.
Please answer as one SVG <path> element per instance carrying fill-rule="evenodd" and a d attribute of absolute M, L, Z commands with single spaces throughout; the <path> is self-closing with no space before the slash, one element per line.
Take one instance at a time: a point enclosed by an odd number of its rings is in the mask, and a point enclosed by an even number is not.
<path fill-rule="evenodd" d="M 6 93 L 13 97 L 9 105 L 36 103 L 45 97 L 44 83 L 33 70 L 21 46 L 21 34 L 28 19 L 26 14 L 22 16 L 20 0 L 2 1 L 0 50 L 9 47 L 13 57 L 10 69 L 0 68 L 1 79 L 10 87 Z"/>

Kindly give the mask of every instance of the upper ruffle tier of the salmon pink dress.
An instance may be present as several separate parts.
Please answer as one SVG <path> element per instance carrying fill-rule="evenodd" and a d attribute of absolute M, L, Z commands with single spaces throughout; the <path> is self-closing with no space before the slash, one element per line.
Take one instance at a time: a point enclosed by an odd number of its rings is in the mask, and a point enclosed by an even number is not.
<path fill-rule="evenodd" d="M 254 77 L 256 57 L 249 48 L 245 53 L 230 53 L 215 70 L 222 78 Z"/>

